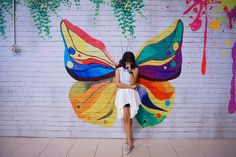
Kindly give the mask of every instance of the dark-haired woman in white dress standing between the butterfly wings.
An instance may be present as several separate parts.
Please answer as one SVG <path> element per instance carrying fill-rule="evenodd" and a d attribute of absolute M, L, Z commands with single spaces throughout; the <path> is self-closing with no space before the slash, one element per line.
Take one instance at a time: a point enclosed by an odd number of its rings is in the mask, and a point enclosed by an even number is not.
<path fill-rule="evenodd" d="M 118 119 L 124 121 L 126 134 L 125 153 L 133 149 L 132 118 L 138 112 L 141 104 L 137 87 L 138 68 L 135 67 L 135 57 L 132 52 L 125 52 L 115 73 L 115 83 L 118 87 L 115 105 L 117 106 Z"/>

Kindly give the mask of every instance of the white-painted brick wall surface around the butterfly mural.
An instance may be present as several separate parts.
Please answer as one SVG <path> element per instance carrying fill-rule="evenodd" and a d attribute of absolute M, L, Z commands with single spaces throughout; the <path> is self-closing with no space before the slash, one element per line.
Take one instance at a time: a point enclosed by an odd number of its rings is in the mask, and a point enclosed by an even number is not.
<path fill-rule="evenodd" d="M 134 121 L 137 138 L 236 138 L 236 113 L 228 113 L 232 77 L 231 48 L 235 42 L 235 25 L 224 32 L 208 29 L 207 72 L 200 72 L 203 52 L 202 27 L 192 32 L 188 8 L 183 0 L 145 0 L 144 15 L 137 17 L 133 42 L 121 34 L 112 8 L 103 5 L 94 24 L 94 10 L 89 0 L 76 7 L 61 8 L 58 14 L 103 41 L 118 61 L 123 49 L 137 52 L 148 39 L 165 30 L 174 20 L 184 23 L 183 64 L 181 75 L 172 81 L 176 89 L 174 107 L 160 125 L 141 128 Z M 225 16 L 223 12 L 219 16 Z M 16 11 L 17 45 L 14 55 L 11 17 L 7 18 L 6 39 L 0 39 L 0 136 L 43 137 L 124 137 L 121 121 L 103 128 L 78 119 L 69 100 L 70 87 L 76 82 L 64 68 L 64 43 L 60 34 L 61 18 L 51 15 L 51 40 L 40 38 L 28 9 Z M 225 22 L 226 23 L 226 22 Z M 203 23 L 204 24 L 204 23 Z M 227 46 L 225 40 L 230 39 Z M 225 51 L 226 56 L 221 56 Z"/>

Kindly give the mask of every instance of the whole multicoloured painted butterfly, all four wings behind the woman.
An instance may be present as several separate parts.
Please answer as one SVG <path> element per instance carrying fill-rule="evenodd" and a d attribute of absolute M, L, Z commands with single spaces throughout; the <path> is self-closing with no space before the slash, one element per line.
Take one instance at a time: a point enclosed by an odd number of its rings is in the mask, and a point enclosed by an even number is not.
<path fill-rule="evenodd" d="M 69 92 L 76 115 L 85 122 L 112 127 L 117 114 L 117 63 L 102 41 L 66 19 L 60 27 L 65 68 L 77 80 Z M 137 90 L 142 102 L 136 119 L 143 128 L 160 124 L 173 108 L 175 88 L 168 80 L 181 73 L 182 41 L 183 23 L 176 20 L 160 35 L 146 41 L 135 55 L 139 69 Z"/>

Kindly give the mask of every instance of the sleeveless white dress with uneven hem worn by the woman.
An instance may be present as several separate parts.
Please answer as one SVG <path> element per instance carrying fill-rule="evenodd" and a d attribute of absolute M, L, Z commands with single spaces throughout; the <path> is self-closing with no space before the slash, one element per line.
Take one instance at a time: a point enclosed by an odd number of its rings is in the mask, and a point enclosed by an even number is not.
<path fill-rule="evenodd" d="M 119 68 L 120 83 L 129 84 L 129 72 L 123 67 Z M 117 107 L 117 118 L 122 119 L 124 112 L 123 108 L 126 104 L 130 104 L 130 118 L 133 118 L 137 112 L 139 105 L 141 104 L 140 97 L 137 89 L 130 88 L 118 88 L 116 93 L 115 105 Z"/>

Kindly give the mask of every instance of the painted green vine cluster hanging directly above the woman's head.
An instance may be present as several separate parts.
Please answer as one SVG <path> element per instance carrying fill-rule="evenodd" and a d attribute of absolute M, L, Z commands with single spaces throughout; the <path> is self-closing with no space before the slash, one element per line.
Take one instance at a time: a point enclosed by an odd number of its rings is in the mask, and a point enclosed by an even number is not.
<path fill-rule="evenodd" d="M 111 6 L 115 17 L 118 19 L 122 34 L 124 34 L 126 38 L 127 35 L 131 38 L 135 38 L 135 15 L 139 13 L 143 16 L 141 12 L 144 7 L 143 0 L 112 0 Z"/>

